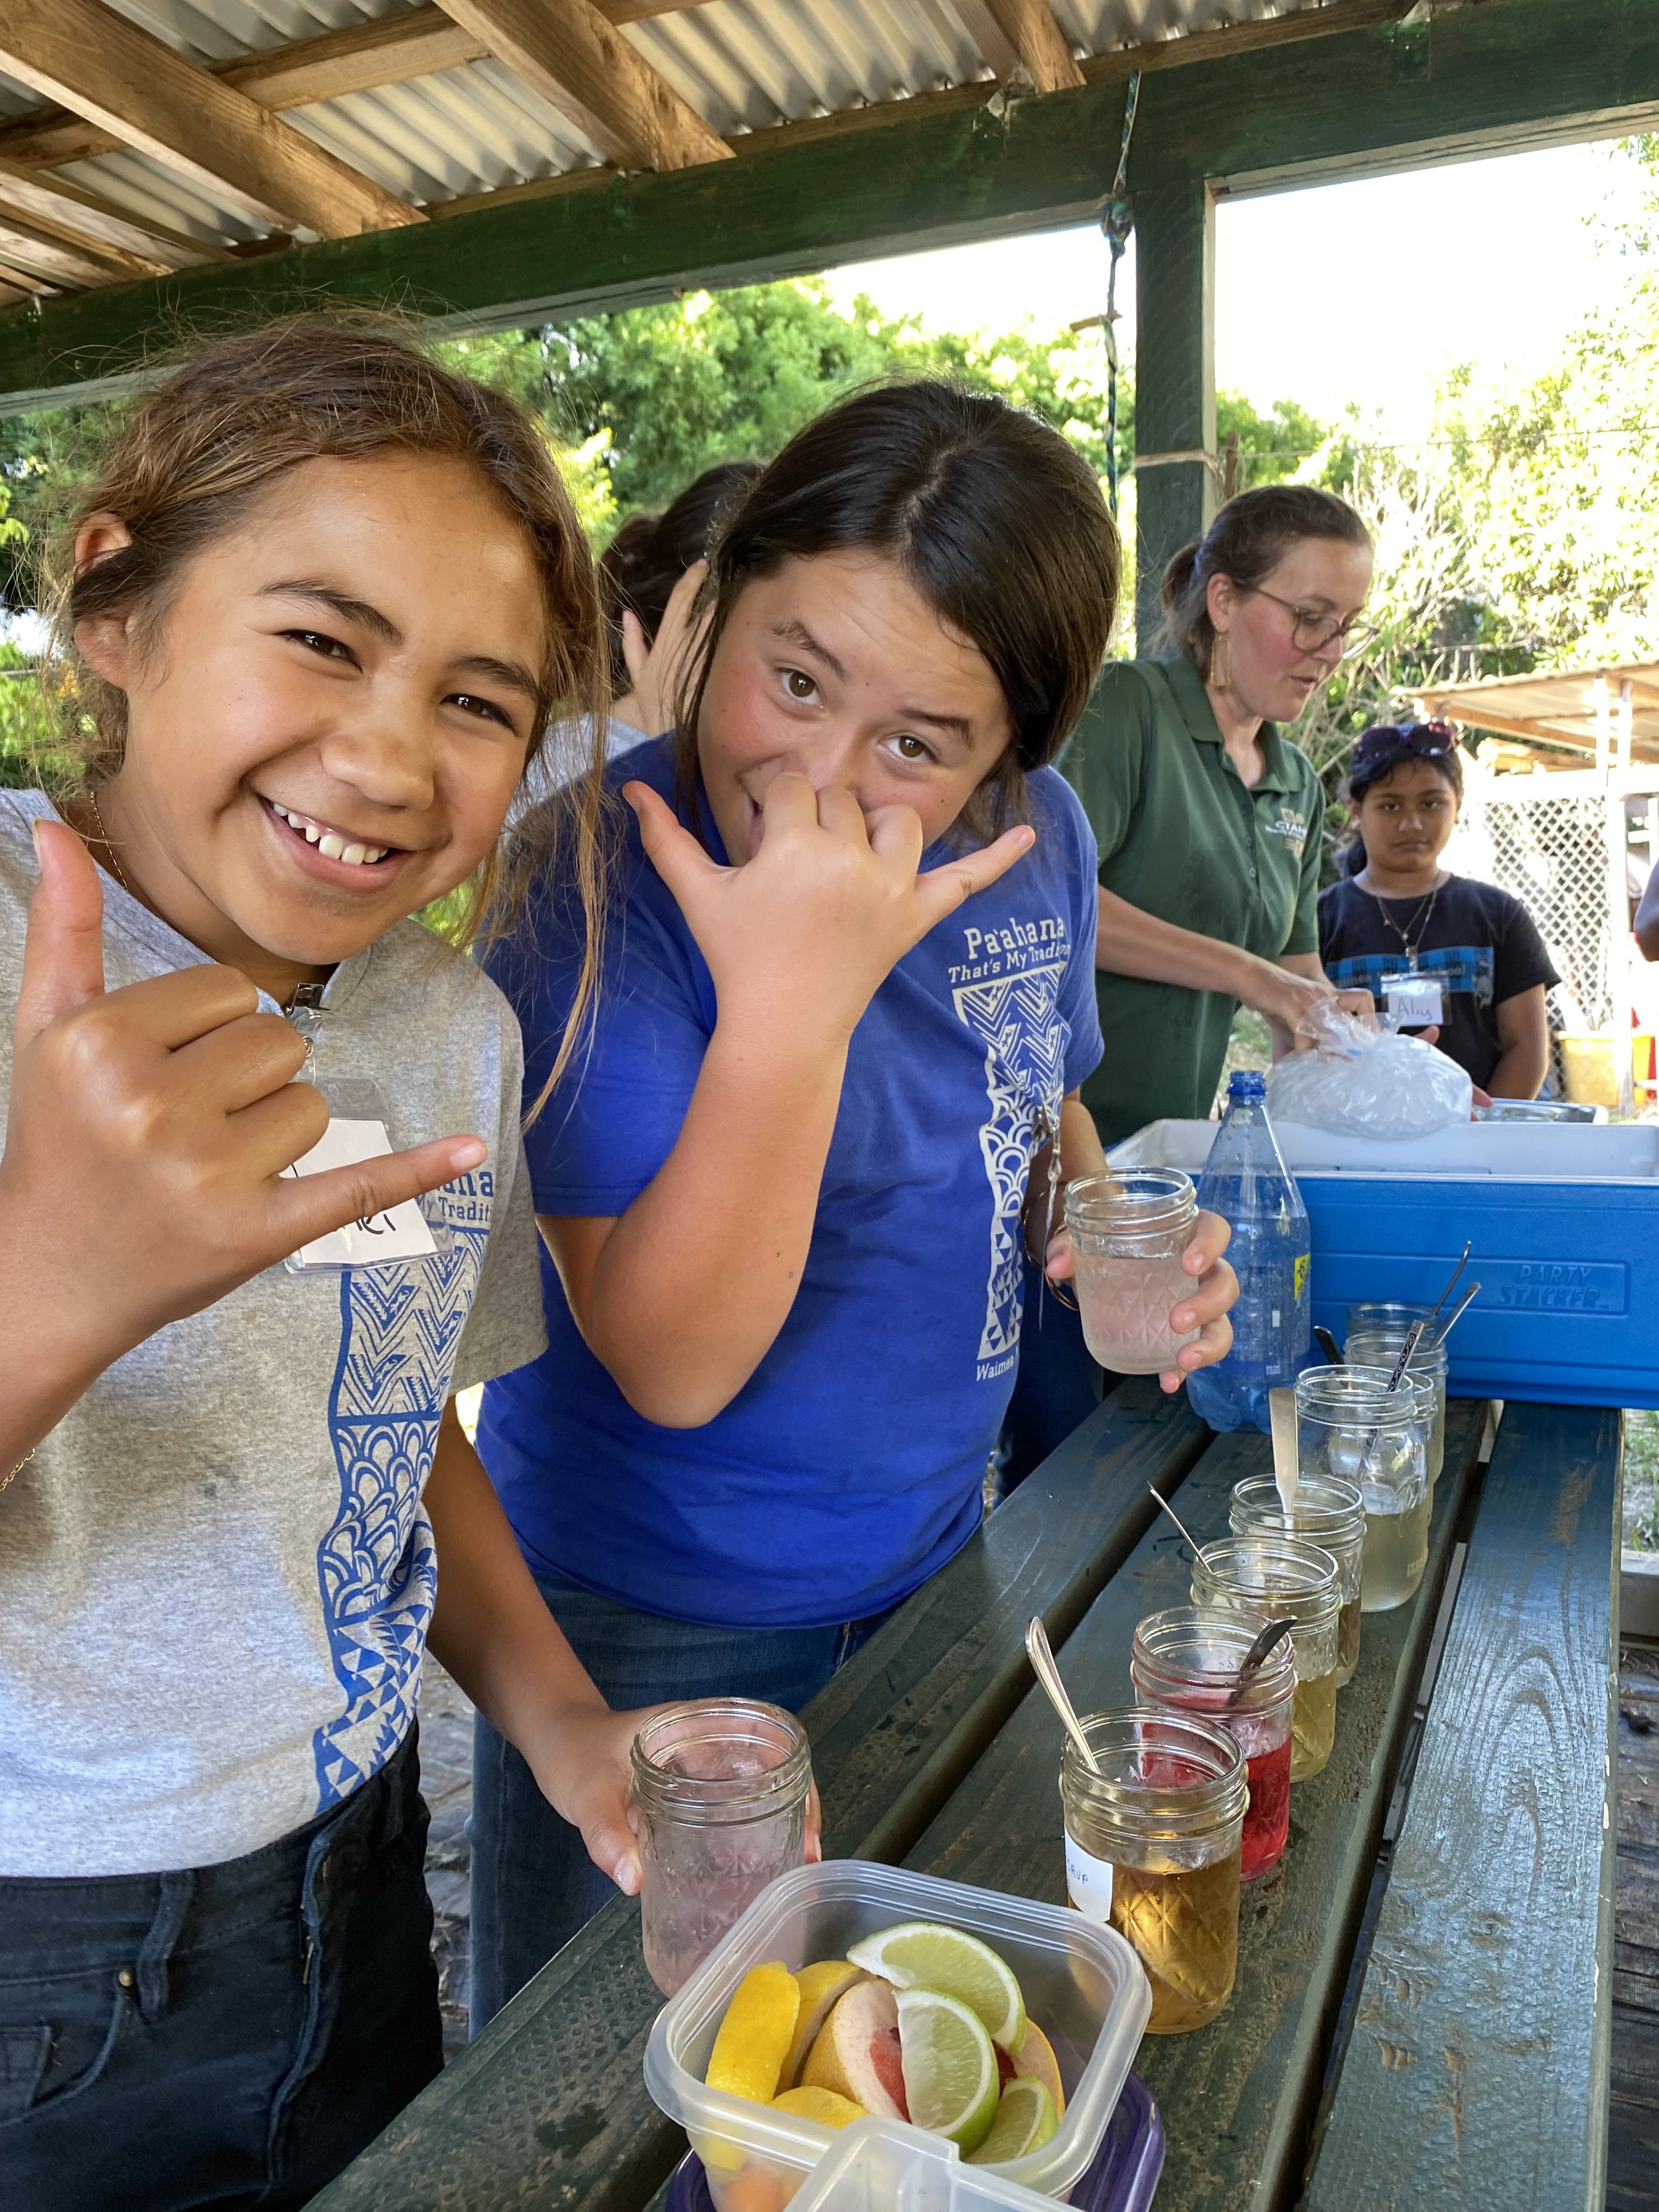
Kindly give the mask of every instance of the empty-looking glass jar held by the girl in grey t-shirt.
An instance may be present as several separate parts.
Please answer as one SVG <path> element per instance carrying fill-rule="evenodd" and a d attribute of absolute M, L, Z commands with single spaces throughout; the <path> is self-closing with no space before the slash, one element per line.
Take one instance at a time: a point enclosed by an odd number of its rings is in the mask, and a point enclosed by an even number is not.
<path fill-rule="evenodd" d="M 812 1750 L 792 1712 L 699 1699 L 633 1739 L 646 1971 L 672 1997 L 768 1882 L 805 1865 Z"/>

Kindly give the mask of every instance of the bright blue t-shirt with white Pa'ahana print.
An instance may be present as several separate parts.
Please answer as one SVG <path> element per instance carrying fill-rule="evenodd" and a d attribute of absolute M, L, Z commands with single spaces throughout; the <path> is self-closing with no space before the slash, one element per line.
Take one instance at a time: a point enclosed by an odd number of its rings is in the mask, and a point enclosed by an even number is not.
<path fill-rule="evenodd" d="M 611 770 L 630 779 L 688 818 L 672 739 Z M 1029 814 L 1035 847 L 898 962 L 854 1031 L 801 1287 L 714 1420 L 635 1413 L 542 1256 L 549 1349 L 489 1385 L 478 1429 L 531 1566 L 675 1619 L 823 1626 L 896 1604 L 975 1528 L 1020 1347 L 1026 1168 L 1099 1060 L 1095 841 L 1053 770 L 1029 779 Z M 703 838 L 723 858 L 706 803 Z M 940 843 L 922 865 L 947 858 Z M 555 883 L 489 958 L 524 1024 L 526 1099 L 580 951 Z M 526 1137 L 540 1214 L 639 1197 L 712 1029 L 708 967 L 628 816 L 595 1031 Z"/>

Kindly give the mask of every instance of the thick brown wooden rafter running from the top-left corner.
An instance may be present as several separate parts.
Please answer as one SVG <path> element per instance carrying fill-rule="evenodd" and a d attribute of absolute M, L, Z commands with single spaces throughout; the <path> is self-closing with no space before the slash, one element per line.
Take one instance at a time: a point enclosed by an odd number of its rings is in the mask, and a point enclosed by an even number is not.
<path fill-rule="evenodd" d="M 102 0 L 0 0 L 0 71 L 257 223 L 327 239 L 422 221 L 259 102 Z"/>

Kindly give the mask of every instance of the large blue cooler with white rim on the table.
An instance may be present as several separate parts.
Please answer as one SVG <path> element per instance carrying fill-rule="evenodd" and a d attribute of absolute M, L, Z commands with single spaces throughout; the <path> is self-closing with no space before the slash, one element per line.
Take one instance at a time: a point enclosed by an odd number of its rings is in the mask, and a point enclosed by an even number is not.
<path fill-rule="evenodd" d="M 1121 1168 L 1197 1177 L 1217 1121 L 1152 1121 Z M 1409 1144 L 1274 1121 L 1307 1206 L 1314 1321 L 1363 1298 L 1433 1305 L 1473 1245 L 1451 1334 L 1462 1398 L 1659 1407 L 1659 1128 L 1469 1121 Z"/>

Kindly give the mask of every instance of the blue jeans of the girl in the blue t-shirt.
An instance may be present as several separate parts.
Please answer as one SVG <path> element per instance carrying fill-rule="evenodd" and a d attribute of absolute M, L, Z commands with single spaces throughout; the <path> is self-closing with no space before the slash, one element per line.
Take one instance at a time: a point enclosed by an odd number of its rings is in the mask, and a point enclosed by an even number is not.
<path fill-rule="evenodd" d="M 568 1575 L 535 1584 L 617 1710 L 677 1697 L 761 1697 L 799 1712 L 887 1615 L 841 1628 L 706 1628 L 637 1613 Z M 473 1721 L 473 2035 L 617 1893 L 524 1759 Z"/>

